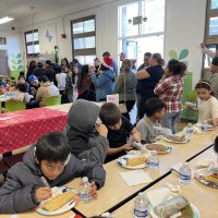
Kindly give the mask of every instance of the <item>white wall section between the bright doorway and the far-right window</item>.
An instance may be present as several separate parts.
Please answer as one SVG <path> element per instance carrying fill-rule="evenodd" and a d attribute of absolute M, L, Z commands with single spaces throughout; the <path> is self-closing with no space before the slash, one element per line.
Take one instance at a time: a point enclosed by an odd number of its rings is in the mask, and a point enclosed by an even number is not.
<path fill-rule="evenodd" d="M 189 49 L 185 59 L 189 71 L 193 72 L 193 84 L 202 74 L 202 50 L 204 40 L 206 0 L 166 0 L 165 58 L 169 50 L 179 53 Z"/>

